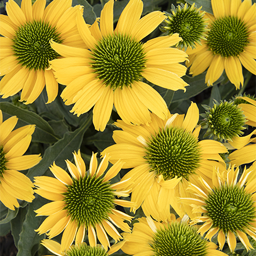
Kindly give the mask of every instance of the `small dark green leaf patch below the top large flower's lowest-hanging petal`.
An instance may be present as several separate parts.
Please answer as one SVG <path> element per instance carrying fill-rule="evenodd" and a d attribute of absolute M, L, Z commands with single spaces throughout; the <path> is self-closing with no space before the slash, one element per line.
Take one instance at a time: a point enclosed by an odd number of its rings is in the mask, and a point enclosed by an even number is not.
<path fill-rule="evenodd" d="M 86 144 L 93 144 L 98 147 L 100 152 L 102 152 L 104 149 L 106 149 L 106 147 L 115 144 L 112 135 L 113 131 L 116 129 L 117 127 L 115 127 L 114 125 L 107 125 L 106 129 L 104 129 L 103 132 L 97 132 L 95 135 L 86 138 Z"/>

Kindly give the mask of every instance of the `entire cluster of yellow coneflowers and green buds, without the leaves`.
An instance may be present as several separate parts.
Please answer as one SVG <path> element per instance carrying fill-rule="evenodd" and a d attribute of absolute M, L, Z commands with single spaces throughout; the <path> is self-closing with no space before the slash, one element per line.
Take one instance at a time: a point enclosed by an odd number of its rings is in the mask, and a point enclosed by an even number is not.
<path fill-rule="evenodd" d="M 114 0 L 92 25 L 85 23 L 82 6 L 72 7 L 71 0 L 45 5 L 45 0 L 33 5 L 23 0 L 21 8 L 13 0 L 6 3 L 8 16 L 0 16 L 2 98 L 22 90 L 20 101 L 30 104 L 46 87 L 51 103 L 59 83 L 66 86 L 60 95 L 65 104 L 74 104 L 72 113 L 79 117 L 93 107 L 93 125 L 104 131 L 114 106 L 121 118 L 114 125 L 120 129 L 99 165 L 93 153 L 86 170 L 79 150 L 73 153 L 74 164 L 66 160 L 69 174 L 53 163 L 52 176 L 36 176 L 33 183 L 19 171 L 41 160 L 24 155 L 35 125 L 14 129 L 18 118 L 3 121 L 1 111 L 1 202 L 15 210 L 17 200 L 31 203 L 34 193 L 51 201 L 35 210 L 47 216 L 35 232 L 46 233 L 42 244 L 56 255 L 106 256 L 121 249 L 136 256 L 221 256 L 226 242 L 235 251 L 237 239 L 251 250 L 247 235 L 256 241 L 256 130 L 242 135 L 244 125 L 256 126 L 255 99 L 237 96 L 204 106 L 199 124 L 196 103 L 186 115 L 171 114 L 149 83 L 186 91 L 181 77 L 188 67 L 193 76 L 208 68 L 208 85 L 225 70 L 236 88 L 243 86 L 242 65 L 256 74 L 255 3 L 212 0 L 213 15 L 185 3 L 173 6 L 172 14 L 154 11 L 140 19 L 143 2 L 130 0 L 115 28 Z M 186 22 L 178 34 L 174 28 L 181 20 Z M 160 24 L 164 34 L 143 43 Z M 199 139 L 201 128 L 213 139 Z M 107 169 L 109 162 L 113 165 Z M 241 171 L 244 164 L 249 167 Z M 130 170 L 114 183 L 122 168 Z M 119 199 L 130 194 L 131 201 Z M 131 215 L 122 207 L 130 208 Z M 140 207 L 144 217 L 136 219 Z M 53 238 L 60 233 L 58 243 Z"/>

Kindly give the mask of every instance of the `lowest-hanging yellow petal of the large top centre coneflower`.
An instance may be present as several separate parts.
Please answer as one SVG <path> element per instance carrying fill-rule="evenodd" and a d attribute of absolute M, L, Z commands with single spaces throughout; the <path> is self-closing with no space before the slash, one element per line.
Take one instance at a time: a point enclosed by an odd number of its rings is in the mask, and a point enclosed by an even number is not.
<path fill-rule="evenodd" d="M 113 109 L 113 102 L 113 91 L 109 87 L 105 86 L 102 96 L 93 107 L 92 120 L 97 131 L 103 132 L 106 128 L 107 122 L 109 121 Z"/>

